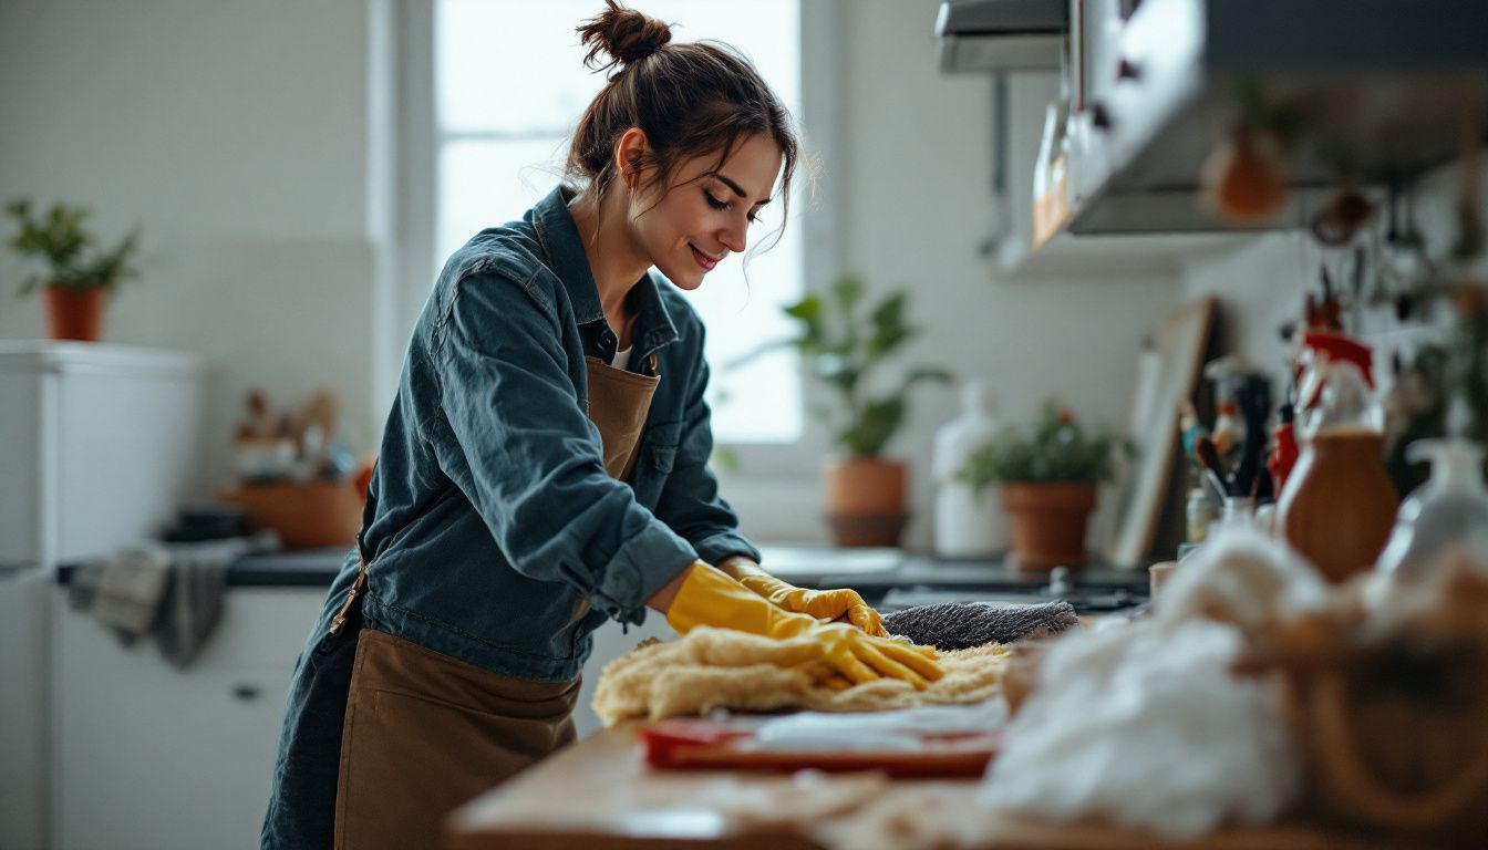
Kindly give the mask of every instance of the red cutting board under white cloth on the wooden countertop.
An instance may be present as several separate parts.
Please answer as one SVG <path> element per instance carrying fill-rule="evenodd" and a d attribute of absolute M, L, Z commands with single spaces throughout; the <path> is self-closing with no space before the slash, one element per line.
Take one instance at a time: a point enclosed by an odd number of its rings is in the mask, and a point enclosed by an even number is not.
<path fill-rule="evenodd" d="M 753 725 L 759 725 L 757 722 Z M 668 719 L 640 729 L 646 762 L 667 770 L 859 771 L 890 776 L 982 776 L 1001 732 L 920 735 L 918 750 L 766 750 L 750 725 Z"/>

